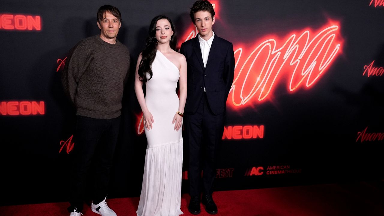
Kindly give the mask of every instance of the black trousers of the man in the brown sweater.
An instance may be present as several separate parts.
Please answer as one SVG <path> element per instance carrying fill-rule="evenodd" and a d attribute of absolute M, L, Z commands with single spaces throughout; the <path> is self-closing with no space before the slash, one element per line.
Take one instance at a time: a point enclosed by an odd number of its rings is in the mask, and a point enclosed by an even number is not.
<path fill-rule="evenodd" d="M 86 176 L 93 166 L 94 204 L 104 200 L 108 192 L 109 169 L 119 134 L 120 117 L 96 119 L 77 116 L 74 134 L 73 169 L 70 176 L 70 204 L 68 211 L 83 210 Z"/>

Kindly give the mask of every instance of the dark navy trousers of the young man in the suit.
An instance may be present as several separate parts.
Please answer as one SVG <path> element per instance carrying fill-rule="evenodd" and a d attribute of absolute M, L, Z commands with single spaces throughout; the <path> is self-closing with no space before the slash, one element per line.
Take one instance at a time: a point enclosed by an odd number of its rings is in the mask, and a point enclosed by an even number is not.
<path fill-rule="evenodd" d="M 216 177 L 217 149 L 224 131 L 225 113 L 214 115 L 204 93 L 196 113 L 185 117 L 189 145 L 189 194 L 197 196 L 202 191 L 205 195 L 211 195 Z"/>

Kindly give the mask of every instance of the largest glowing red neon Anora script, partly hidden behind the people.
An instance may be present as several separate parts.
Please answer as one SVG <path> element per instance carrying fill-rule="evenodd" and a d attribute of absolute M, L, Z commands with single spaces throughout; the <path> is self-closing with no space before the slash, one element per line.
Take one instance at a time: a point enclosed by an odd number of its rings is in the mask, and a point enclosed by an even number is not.
<path fill-rule="evenodd" d="M 280 38 L 257 38 L 254 45 L 234 42 L 235 75 L 227 107 L 256 109 L 256 105 L 273 100 L 278 85 L 286 85 L 289 93 L 315 86 L 342 52 L 344 40 L 339 26 L 337 21 L 328 20 L 317 29 L 293 30 Z M 191 24 L 177 47 L 197 34 Z M 137 121 L 140 135 L 144 131 L 142 115 L 137 115 Z"/>

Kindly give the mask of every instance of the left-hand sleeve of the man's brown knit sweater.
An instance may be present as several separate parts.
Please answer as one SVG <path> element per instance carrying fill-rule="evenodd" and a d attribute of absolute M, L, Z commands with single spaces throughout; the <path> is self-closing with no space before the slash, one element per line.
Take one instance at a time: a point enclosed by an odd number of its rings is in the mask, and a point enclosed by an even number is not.
<path fill-rule="evenodd" d="M 61 73 L 61 84 L 72 103 L 75 102 L 79 80 L 92 60 L 91 47 L 87 46 L 83 41 L 73 47 L 68 53 L 64 70 Z"/>

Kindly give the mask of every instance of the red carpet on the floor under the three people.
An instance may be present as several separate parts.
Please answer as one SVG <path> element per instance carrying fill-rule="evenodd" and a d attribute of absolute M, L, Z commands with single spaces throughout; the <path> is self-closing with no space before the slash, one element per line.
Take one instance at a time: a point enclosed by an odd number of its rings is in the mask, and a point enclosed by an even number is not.
<path fill-rule="evenodd" d="M 384 215 L 383 183 L 348 183 L 217 191 L 217 216 L 379 216 Z M 139 198 L 107 199 L 118 216 L 136 216 Z M 189 195 L 183 194 L 181 210 L 187 209 Z M 69 216 L 67 202 L 1 206 L 1 216 Z M 85 216 L 98 216 L 84 206 Z M 204 206 L 199 216 L 208 216 Z"/>

